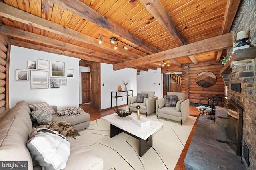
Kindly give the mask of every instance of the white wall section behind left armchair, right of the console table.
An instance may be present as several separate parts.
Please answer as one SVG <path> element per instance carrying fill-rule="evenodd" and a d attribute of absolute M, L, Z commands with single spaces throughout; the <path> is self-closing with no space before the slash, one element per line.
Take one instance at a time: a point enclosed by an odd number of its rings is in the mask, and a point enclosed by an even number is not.
<path fill-rule="evenodd" d="M 155 96 L 162 98 L 162 74 L 161 68 L 157 70 L 140 71 L 137 76 L 137 90 L 155 91 Z M 136 96 L 136 95 L 134 95 Z"/>

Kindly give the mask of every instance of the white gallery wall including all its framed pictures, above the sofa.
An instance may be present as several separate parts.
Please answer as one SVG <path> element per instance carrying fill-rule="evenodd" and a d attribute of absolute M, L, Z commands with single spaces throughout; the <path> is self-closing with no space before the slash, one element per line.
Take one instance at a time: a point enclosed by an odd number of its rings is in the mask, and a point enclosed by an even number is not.
<path fill-rule="evenodd" d="M 80 59 L 11 45 L 9 105 L 46 101 L 79 107 Z"/>

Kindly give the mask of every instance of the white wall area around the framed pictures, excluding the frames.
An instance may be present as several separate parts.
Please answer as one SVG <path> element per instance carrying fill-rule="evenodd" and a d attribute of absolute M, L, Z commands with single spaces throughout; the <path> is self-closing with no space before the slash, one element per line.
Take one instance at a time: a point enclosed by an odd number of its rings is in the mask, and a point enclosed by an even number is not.
<path fill-rule="evenodd" d="M 74 78 L 66 78 L 67 86 L 60 88 L 31 89 L 31 77 L 28 69 L 28 61 L 36 61 L 38 70 L 38 59 L 48 60 L 48 71 L 50 80 L 50 61 L 61 61 L 65 63 L 66 69 L 74 69 Z M 10 70 L 9 70 L 9 104 L 12 108 L 18 101 L 26 102 L 47 102 L 49 105 L 58 106 L 58 109 L 79 106 L 79 60 L 73 57 L 47 53 L 11 46 Z M 16 69 L 28 70 L 28 81 L 16 81 Z M 33 69 L 34 70 L 34 69 Z M 61 79 L 61 78 L 60 78 Z M 50 87 L 50 86 L 49 86 Z"/>

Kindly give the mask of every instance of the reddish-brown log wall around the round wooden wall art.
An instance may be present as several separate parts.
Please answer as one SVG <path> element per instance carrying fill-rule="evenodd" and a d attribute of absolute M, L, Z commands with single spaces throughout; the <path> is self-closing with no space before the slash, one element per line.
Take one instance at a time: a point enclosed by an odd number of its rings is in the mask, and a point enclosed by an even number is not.
<path fill-rule="evenodd" d="M 202 98 L 211 98 L 211 95 L 220 95 L 222 97 L 222 104 L 224 104 L 225 84 L 220 76 L 222 65 L 216 61 L 201 62 L 196 64 L 189 64 L 189 101 L 190 103 L 198 103 Z M 196 76 L 200 72 L 210 71 L 216 77 L 216 83 L 211 87 L 201 87 L 196 84 Z M 202 100 L 202 104 L 207 104 L 207 100 Z"/>

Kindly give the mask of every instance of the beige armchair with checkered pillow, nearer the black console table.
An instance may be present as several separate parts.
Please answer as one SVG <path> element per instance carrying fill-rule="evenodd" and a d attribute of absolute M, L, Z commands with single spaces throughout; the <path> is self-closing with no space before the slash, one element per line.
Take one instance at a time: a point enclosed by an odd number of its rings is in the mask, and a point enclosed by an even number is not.
<path fill-rule="evenodd" d="M 137 93 L 137 96 L 132 96 L 128 98 L 128 107 L 131 111 L 137 112 L 137 105 L 140 105 L 140 113 L 148 114 L 154 113 L 156 111 L 156 100 L 154 91 L 141 91 Z"/>

